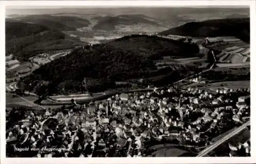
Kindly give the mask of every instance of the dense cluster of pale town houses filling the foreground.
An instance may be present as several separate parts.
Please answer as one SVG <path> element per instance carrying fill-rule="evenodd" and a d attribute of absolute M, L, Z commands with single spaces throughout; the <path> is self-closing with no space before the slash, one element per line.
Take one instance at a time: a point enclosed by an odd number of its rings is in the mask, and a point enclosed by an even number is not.
<path fill-rule="evenodd" d="M 35 156 L 143 156 L 144 139 L 203 147 L 225 123 L 239 125 L 250 116 L 249 94 L 249 89 L 227 88 L 122 93 L 70 110 L 32 112 L 8 130 L 7 139 L 13 147 L 66 148 Z"/>

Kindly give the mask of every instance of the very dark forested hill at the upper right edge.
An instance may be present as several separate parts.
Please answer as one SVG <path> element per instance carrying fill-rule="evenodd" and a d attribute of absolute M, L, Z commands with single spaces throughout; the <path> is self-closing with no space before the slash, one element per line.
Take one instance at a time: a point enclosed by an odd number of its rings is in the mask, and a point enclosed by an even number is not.
<path fill-rule="evenodd" d="M 228 18 L 189 22 L 169 29 L 159 35 L 181 35 L 191 37 L 233 36 L 250 42 L 250 18 Z"/>

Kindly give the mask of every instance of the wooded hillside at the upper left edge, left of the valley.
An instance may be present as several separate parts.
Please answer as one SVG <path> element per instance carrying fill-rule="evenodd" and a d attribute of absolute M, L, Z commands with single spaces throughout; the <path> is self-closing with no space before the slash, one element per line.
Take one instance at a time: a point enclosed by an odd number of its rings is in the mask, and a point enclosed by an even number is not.
<path fill-rule="evenodd" d="M 21 61 L 36 53 L 70 49 L 86 43 L 45 26 L 17 21 L 6 21 L 6 55 L 13 53 Z"/>

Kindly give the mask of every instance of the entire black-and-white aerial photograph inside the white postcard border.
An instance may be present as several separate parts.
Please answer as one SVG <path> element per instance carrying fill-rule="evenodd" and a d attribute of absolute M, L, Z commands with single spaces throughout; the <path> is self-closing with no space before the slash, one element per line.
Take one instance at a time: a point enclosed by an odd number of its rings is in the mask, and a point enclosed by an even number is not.
<path fill-rule="evenodd" d="M 50 7 L 6 8 L 6 157 L 251 156 L 249 6 Z"/>

